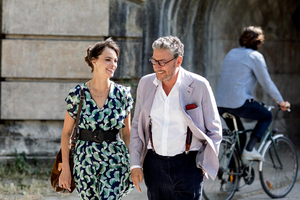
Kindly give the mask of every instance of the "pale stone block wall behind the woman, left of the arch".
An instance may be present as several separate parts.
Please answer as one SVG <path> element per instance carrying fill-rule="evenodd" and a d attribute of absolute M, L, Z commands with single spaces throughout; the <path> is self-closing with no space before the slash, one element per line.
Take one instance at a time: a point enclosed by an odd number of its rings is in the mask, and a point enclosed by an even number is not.
<path fill-rule="evenodd" d="M 121 53 L 113 80 L 141 77 L 143 2 L 129 0 L 2 0 L 0 158 L 25 151 L 55 156 L 65 97 L 91 79 L 87 47 L 113 37 Z"/>

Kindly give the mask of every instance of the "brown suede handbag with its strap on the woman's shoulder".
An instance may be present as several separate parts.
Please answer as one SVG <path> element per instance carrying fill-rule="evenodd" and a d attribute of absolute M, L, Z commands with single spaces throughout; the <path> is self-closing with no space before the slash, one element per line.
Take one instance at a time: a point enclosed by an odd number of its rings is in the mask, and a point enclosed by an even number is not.
<path fill-rule="evenodd" d="M 79 97 L 80 101 L 79 101 L 79 107 L 78 107 L 78 111 L 77 111 L 74 131 L 73 131 L 73 134 L 71 136 L 70 156 L 69 156 L 70 171 L 71 171 L 71 176 L 72 176 L 71 187 L 70 187 L 71 191 L 58 186 L 59 185 L 58 179 L 59 179 L 59 175 L 61 174 L 61 168 L 62 168 L 61 149 L 59 150 L 59 152 L 56 156 L 56 159 L 55 159 L 52 171 L 51 171 L 51 184 L 52 184 L 52 187 L 53 187 L 55 192 L 61 193 L 61 194 L 71 194 L 76 188 L 75 182 L 74 182 L 74 177 L 73 177 L 73 167 L 74 167 L 73 156 L 74 156 L 74 151 L 75 151 L 75 147 L 76 147 L 76 140 L 78 139 L 78 135 L 79 135 L 78 134 L 78 125 L 79 125 L 80 112 L 81 112 L 83 100 L 85 99 L 82 85 L 77 85 L 77 86 L 80 86 L 80 97 Z"/>

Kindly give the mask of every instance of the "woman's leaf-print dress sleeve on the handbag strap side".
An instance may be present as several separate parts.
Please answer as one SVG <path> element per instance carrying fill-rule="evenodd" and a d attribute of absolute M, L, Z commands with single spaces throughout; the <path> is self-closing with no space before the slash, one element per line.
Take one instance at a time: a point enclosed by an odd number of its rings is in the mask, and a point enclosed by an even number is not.
<path fill-rule="evenodd" d="M 80 101 L 79 93 L 80 93 L 80 87 L 77 86 L 76 88 L 73 88 L 70 90 L 69 95 L 65 99 L 65 102 L 67 103 L 67 112 L 75 120 L 76 120 L 76 115 L 78 112 L 78 105 L 79 105 L 79 101 Z"/>

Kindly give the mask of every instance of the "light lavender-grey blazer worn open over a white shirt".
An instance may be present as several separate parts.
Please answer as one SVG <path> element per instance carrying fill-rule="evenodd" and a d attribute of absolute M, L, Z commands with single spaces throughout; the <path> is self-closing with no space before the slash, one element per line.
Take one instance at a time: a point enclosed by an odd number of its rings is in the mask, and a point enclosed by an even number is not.
<path fill-rule="evenodd" d="M 193 135 L 200 139 L 202 147 L 196 156 L 197 167 L 203 169 L 214 180 L 219 168 L 218 152 L 222 140 L 222 127 L 214 95 L 208 81 L 197 74 L 180 67 L 181 83 L 179 102 L 182 113 Z M 130 166 L 143 167 L 149 142 L 150 111 L 156 85 L 155 73 L 141 78 L 137 87 L 137 100 L 130 133 Z M 186 110 L 188 104 L 196 104 L 195 109 Z M 182 141 L 185 143 L 185 141 Z"/>

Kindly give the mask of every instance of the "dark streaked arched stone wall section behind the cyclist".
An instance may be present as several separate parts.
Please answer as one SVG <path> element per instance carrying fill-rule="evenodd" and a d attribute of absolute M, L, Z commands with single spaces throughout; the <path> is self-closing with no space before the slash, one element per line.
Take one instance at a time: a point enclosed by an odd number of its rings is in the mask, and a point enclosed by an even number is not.
<path fill-rule="evenodd" d="M 268 71 L 292 112 L 281 112 L 276 127 L 294 141 L 300 139 L 300 1 L 268 0 L 148 0 L 145 12 L 144 74 L 151 72 L 151 44 L 176 35 L 184 43 L 182 66 L 204 76 L 216 92 L 226 53 L 239 46 L 243 27 L 259 25 L 266 41 L 259 48 Z M 155 14 L 153 14 L 155 13 Z M 151 16 L 151 17 L 150 17 Z M 147 20 L 149 19 L 149 20 Z M 258 85 L 256 99 L 275 105 Z M 225 123 L 222 123 L 226 127 Z M 253 123 L 246 123 L 252 126 Z M 298 145 L 300 147 L 300 145 Z"/>

